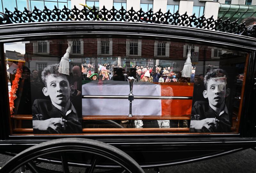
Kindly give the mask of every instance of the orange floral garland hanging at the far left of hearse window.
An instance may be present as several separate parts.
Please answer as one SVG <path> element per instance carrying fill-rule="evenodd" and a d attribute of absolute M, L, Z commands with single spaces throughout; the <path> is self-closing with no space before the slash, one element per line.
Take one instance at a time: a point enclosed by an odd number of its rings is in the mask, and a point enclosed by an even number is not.
<path fill-rule="evenodd" d="M 12 88 L 11 88 L 11 91 L 9 92 L 9 103 L 10 103 L 11 115 L 13 114 L 14 100 L 17 98 L 16 92 L 18 90 L 19 81 L 20 81 L 21 74 L 22 74 L 22 65 L 23 65 L 22 62 L 18 63 L 18 69 L 15 74 L 15 79 L 12 81 Z"/>

